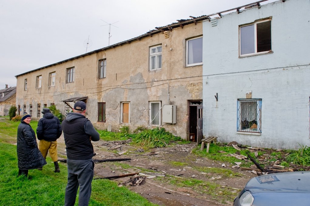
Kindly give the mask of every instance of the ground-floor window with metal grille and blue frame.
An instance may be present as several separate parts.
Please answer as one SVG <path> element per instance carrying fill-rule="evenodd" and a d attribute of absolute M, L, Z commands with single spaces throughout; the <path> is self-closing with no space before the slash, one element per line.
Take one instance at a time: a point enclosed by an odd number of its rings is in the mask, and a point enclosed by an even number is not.
<path fill-rule="evenodd" d="M 238 132 L 262 132 L 262 99 L 238 99 L 237 110 Z"/>

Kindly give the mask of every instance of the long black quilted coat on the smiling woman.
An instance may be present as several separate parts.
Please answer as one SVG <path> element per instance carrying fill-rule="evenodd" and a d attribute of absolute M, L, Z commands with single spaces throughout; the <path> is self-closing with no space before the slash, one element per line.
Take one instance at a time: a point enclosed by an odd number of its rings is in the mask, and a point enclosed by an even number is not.
<path fill-rule="evenodd" d="M 31 126 L 21 120 L 17 129 L 17 159 L 19 169 L 37 169 L 46 163 L 38 149 L 36 135 Z"/>

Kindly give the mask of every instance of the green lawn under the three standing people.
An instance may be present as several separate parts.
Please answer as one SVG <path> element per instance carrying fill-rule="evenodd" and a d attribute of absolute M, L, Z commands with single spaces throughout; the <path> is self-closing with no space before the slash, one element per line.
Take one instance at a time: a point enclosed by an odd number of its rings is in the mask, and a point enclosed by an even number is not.
<path fill-rule="evenodd" d="M 0 203 L 1 205 L 63 205 L 67 184 L 67 167 L 60 163 L 60 173 L 54 173 L 54 164 L 47 158 L 43 170 L 29 170 L 27 179 L 17 177 L 16 146 L 0 142 Z M 78 202 L 78 200 L 77 200 Z M 75 205 L 78 205 L 76 202 Z M 126 187 L 106 179 L 93 180 L 90 205 L 153 206 Z"/>

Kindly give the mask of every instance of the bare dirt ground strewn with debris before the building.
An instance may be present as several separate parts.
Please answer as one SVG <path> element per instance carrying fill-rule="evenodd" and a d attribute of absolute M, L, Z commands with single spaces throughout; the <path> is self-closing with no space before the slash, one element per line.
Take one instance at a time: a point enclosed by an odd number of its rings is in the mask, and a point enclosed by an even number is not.
<path fill-rule="evenodd" d="M 59 156 L 66 158 L 65 145 L 63 135 L 58 139 Z M 115 159 L 115 158 L 130 158 L 127 161 L 109 161 L 95 164 L 95 178 L 110 177 L 122 175 L 125 173 L 145 173 L 141 171 L 147 169 L 156 174 L 172 175 L 180 180 L 194 178 L 207 182 L 214 182 L 221 185 L 224 190 L 229 190 L 237 196 L 238 192 L 245 186 L 246 182 L 257 175 L 249 171 L 242 171 L 238 168 L 232 168 L 231 164 L 226 164 L 226 169 L 232 169 L 235 172 L 242 173 L 240 177 L 221 178 L 220 174 L 204 174 L 193 167 L 222 167 L 221 162 L 216 162 L 206 158 L 195 156 L 191 153 L 193 148 L 197 147 L 196 143 L 192 142 L 185 145 L 175 145 L 165 148 L 154 148 L 151 151 L 138 152 L 135 147 L 129 146 L 126 143 L 120 144 L 121 147 L 117 150 L 108 150 L 115 146 L 117 142 L 98 141 L 93 142 L 96 155 L 94 160 Z M 119 155 L 117 152 L 127 151 L 127 153 Z M 152 154 L 150 152 L 155 152 Z M 174 166 L 172 161 L 185 163 L 183 166 Z M 238 160 L 236 159 L 236 162 Z M 119 164 L 121 163 L 121 164 Z M 130 165 L 129 169 L 120 166 L 123 164 Z M 130 177 L 111 179 L 117 183 L 123 183 L 129 180 Z M 95 181 L 95 180 L 94 180 Z M 184 206 L 215 206 L 215 205 L 232 205 L 232 201 L 224 201 L 219 193 L 217 197 L 195 191 L 194 188 L 179 188 L 169 181 L 160 181 L 157 178 L 147 178 L 145 183 L 140 186 L 127 186 L 131 191 L 138 193 L 150 202 L 158 205 L 184 205 Z"/>

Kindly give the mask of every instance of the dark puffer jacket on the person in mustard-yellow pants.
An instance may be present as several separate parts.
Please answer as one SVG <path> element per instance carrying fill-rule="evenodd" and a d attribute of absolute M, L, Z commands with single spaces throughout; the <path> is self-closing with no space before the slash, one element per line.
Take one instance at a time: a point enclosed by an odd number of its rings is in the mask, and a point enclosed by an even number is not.
<path fill-rule="evenodd" d="M 62 133 L 59 119 L 51 112 L 45 113 L 38 122 L 38 139 L 48 142 L 56 141 Z"/>

